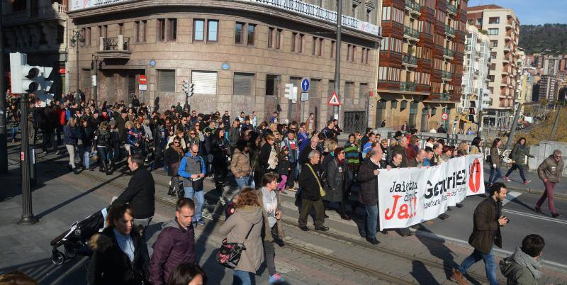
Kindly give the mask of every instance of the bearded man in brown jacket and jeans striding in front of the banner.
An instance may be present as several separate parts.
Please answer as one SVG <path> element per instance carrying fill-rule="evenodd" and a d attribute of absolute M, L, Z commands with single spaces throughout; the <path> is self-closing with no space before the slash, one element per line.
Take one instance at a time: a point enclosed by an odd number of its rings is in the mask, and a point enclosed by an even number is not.
<path fill-rule="evenodd" d="M 495 183 L 490 191 L 490 196 L 478 203 L 474 210 L 473 233 L 468 238 L 468 244 L 474 247 L 474 251 L 466 257 L 458 269 L 453 269 L 451 279 L 461 285 L 468 284 L 463 276 L 463 274 L 466 274 L 466 270 L 481 259 L 483 259 L 490 285 L 498 285 L 496 278 L 498 265 L 494 259 L 493 247 L 497 245 L 502 248 L 500 227 L 508 223 L 508 218 L 501 216 L 502 201 L 506 198 L 507 189 L 504 184 Z"/>

